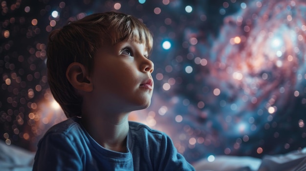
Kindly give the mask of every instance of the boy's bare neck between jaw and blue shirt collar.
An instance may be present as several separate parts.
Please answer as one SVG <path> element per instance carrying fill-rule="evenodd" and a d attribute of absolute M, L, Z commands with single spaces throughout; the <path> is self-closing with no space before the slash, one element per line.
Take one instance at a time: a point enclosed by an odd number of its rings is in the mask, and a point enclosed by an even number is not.
<path fill-rule="evenodd" d="M 83 114 L 81 122 L 90 136 L 102 147 L 116 152 L 127 152 L 128 114 L 121 118 L 105 116 L 99 114 L 88 117 Z"/>

